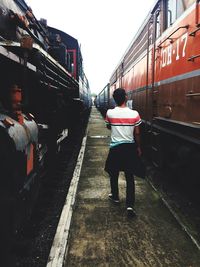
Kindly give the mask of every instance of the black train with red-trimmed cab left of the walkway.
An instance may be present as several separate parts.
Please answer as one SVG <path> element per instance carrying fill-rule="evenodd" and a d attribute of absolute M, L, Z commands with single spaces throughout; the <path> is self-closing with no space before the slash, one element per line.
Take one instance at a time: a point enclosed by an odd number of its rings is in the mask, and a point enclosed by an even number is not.
<path fill-rule="evenodd" d="M 0 0 L 0 68 L 1 203 L 10 203 L 7 219 L 17 231 L 30 217 L 40 174 L 91 97 L 77 40 L 38 21 L 23 0 Z"/>

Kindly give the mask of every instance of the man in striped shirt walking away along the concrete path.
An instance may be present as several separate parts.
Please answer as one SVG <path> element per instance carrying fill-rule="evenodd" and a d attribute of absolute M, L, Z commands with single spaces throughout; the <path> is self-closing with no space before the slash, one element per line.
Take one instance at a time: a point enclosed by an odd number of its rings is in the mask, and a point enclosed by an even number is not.
<path fill-rule="evenodd" d="M 118 177 L 124 171 L 126 177 L 126 208 L 128 216 L 135 216 L 135 181 L 134 174 L 145 177 L 145 168 L 140 160 L 140 115 L 126 106 L 126 92 L 118 88 L 113 93 L 117 104 L 106 113 L 107 128 L 111 129 L 110 150 L 105 164 L 105 171 L 110 176 L 111 193 L 109 199 L 119 203 Z"/>

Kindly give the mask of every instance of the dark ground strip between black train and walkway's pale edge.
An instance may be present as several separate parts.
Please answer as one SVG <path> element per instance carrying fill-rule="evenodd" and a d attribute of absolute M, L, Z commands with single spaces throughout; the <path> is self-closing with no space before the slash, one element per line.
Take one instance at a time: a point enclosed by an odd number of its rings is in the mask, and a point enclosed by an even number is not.
<path fill-rule="evenodd" d="M 67 138 L 61 143 L 55 166 L 43 178 L 31 220 L 16 237 L 13 266 L 46 266 L 84 132 L 85 126 L 73 140 Z"/>

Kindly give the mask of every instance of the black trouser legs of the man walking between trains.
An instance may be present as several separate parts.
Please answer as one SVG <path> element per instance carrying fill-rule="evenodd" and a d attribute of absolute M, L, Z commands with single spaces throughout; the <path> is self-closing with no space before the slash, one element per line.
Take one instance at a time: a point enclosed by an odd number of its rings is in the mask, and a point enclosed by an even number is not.
<path fill-rule="evenodd" d="M 133 207 L 135 203 L 135 179 L 130 172 L 124 172 L 126 177 L 126 206 Z M 119 172 L 112 172 L 110 174 L 110 187 L 114 199 L 119 198 L 118 177 Z"/>

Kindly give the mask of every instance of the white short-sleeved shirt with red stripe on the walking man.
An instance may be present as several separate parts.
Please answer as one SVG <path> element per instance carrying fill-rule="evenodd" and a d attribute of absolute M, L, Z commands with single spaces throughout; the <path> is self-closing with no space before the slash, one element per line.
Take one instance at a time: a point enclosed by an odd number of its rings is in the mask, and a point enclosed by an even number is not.
<path fill-rule="evenodd" d="M 136 110 L 128 107 L 115 107 L 107 111 L 105 122 L 111 125 L 110 147 L 114 147 L 123 143 L 134 143 L 134 127 L 142 121 Z"/>

